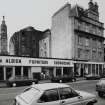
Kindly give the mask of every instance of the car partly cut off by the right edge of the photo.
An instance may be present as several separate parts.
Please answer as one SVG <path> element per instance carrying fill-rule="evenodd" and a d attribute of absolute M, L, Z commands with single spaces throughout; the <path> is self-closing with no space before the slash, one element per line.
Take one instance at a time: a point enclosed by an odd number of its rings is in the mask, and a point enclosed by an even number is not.
<path fill-rule="evenodd" d="M 100 97 L 103 97 L 105 95 L 105 78 L 102 78 L 98 81 L 96 84 L 96 91 L 98 92 L 98 95 Z"/>

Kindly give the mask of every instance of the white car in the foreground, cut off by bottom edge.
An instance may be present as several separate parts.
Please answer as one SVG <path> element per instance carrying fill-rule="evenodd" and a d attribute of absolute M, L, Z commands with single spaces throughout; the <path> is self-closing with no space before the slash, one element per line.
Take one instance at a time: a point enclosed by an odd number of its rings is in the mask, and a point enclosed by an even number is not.
<path fill-rule="evenodd" d="M 34 84 L 14 99 L 14 105 L 93 105 L 96 96 L 62 83 Z"/>

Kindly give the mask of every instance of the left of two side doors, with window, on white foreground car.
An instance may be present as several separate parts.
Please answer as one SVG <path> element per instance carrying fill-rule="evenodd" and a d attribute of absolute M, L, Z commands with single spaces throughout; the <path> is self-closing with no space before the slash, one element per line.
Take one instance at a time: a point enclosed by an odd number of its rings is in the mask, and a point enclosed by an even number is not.
<path fill-rule="evenodd" d="M 46 90 L 39 98 L 37 105 L 60 105 L 58 90 Z"/>

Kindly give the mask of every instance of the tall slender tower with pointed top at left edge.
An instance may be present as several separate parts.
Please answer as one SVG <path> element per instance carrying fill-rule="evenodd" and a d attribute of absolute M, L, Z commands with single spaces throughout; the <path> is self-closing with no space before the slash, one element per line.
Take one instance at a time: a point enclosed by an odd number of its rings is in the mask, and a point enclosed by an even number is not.
<path fill-rule="evenodd" d="M 7 55 L 7 26 L 5 24 L 4 16 L 0 28 L 0 54 Z"/>

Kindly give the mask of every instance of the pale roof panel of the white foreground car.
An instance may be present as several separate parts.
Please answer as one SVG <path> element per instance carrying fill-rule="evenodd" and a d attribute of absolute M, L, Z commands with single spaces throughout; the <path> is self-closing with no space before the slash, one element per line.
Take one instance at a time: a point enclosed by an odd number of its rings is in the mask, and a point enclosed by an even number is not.
<path fill-rule="evenodd" d="M 69 87 L 69 85 L 63 83 L 43 83 L 43 84 L 34 84 L 32 85 L 32 87 L 41 91 L 41 90 L 49 90 L 54 88 Z"/>

